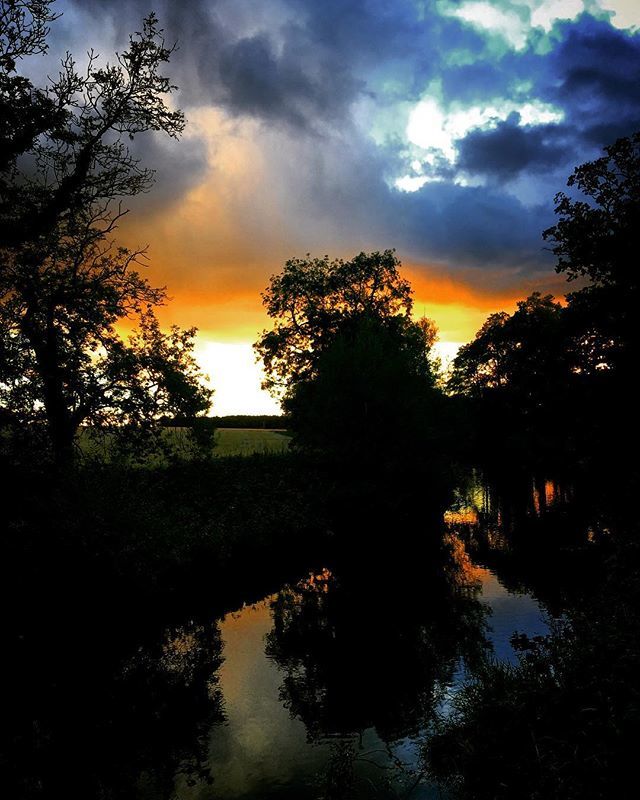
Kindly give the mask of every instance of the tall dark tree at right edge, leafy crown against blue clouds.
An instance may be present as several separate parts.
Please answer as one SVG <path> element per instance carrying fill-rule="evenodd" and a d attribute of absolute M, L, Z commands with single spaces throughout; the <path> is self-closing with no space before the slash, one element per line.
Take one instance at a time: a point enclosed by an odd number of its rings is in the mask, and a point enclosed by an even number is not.
<path fill-rule="evenodd" d="M 632 452 L 640 439 L 630 391 L 640 357 L 640 132 L 604 152 L 574 170 L 568 185 L 582 197 L 556 196 L 559 220 L 544 237 L 553 245 L 556 270 L 583 284 L 567 297 L 574 382 L 580 389 L 571 408 L 583 457 L 593 465 L 608 464 L 610 474 L 620 442 Z"/>

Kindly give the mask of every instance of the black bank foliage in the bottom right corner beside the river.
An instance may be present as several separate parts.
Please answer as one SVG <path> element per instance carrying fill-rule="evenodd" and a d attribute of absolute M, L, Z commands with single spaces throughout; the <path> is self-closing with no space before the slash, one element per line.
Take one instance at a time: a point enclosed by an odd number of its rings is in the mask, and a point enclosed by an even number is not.
<path fill-rule="evenodd" d="M 487 662 L 427 746 L 460 798 L 635 796 L 640 735 L 638 551 L 547 637 L 516 636 L 515 667 Z"/>

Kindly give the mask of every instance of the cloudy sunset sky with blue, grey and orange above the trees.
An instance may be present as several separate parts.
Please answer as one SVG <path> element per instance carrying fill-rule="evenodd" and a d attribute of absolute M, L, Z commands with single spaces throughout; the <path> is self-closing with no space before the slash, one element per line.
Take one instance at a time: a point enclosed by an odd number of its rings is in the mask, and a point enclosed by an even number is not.
<path fill-rule="evenodd" d="M 562 295 L 554 195 L 640 129 L 637 0 L 59 0 L 50 58 L 107 58 L 151 9 L 188 126 L 135 142 L 157 180 L 119 238 L 199 328 L 215 414 L 277 410 L 251 343 L 288 258 L 395 248 L 445 355 Z"/>

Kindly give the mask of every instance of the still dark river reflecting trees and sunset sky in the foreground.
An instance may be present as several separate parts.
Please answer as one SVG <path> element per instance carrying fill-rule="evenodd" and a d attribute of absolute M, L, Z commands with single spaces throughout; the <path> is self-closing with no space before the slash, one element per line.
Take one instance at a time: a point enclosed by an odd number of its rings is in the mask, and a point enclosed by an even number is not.
<path fill-rule="evenodd" d="M 265 568 L 270 593 L 241 607 L 212 585 L 215 612 L 30 618 L 7 661 L 9 796 L 445 797 L 423 772 L 430 731 L 482 659 L 548 630 L 547 595 L 492 559 L 504 526 L 476 501 L 445 515 L 444 547 L 387 520 L 279 588 Z"/>

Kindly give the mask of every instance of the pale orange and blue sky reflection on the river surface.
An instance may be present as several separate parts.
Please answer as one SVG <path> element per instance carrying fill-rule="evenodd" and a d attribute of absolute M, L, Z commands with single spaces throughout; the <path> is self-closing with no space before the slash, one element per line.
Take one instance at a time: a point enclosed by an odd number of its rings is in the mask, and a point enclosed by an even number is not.
<path fill-rule="evenodd" d="M 514 659 L 509 640 L 515 631 L 529 635 L 546 632 L 544 612 L 532 596 L 508 591 L 492 571 L 477 567 L 468 559 L 464 560 L 464 572 L 467 579 L 476 583 L 476 599 L 490 609 L 486 636 L 497 657 Z M 325 580 L 329 575 L 329 583 L 320 593 L 337 591 L 331 585 L 330 574 L 324 575 Z M 304 586 L 308 585 L 309 582 L 306 581 Z M 419 777 L 421 732 L 411 732 L 407 736 L 390 739 L 384 732 L 380 735 L 375 725 L 351 732 L 328 729 L 327 726 L 336 718 L 357 720 L 362 698 L 349 691 L 344 695 L 340 694 L 339 689 L 331 685 L 331 681 L 335 679 L 331 663 L 325 665 L 324 669 L 320 665 L 318 674 L 315 674 L 315 666 L 311 666 L 312 661 L 317 660 L 313 650 L 318 644 L 315 637 L 318 630 L 320 634 L 326 634 L 329 624 L 324 618 L 318 623 L 317 629 L 311 623 L 314 629 L 309 633 L 308 640 L 303 638 L 300 642 L 296 639 L 293 660 L 288 653 L 276 652 L 274 655 L 274 616 L 277 617 L 278 608 L 278 595 L 274 595 L 255 605 L 227 614 L 220 621 L 224 663 L 218 678 L 224 698 L 225 721 L 211 729 L 208 743 L 213 784 L 188 787 L 182 779 L 178 782 L 178 795 L 202 800 L 347 796 L 373 798 L 403 796 L 411 790 L 412 798 L 441 796 L 438 789 L 428 783 L 421 781 L 419 785 L 414 785 Z M 347 605 L 347 611 L 348 608 Z M 372 609 L 375 613 L 375 603 Z M 362 614 L 371 613 L 372 609 L 365 605 Z M 290 609 L 287 613 L 291 613 Z M 318 613 L 322 616 L 323 606 Z M 336 613 L 347 613 L 345 606 L 340 605 Z M 308 620 L 305 620 L 305 625 L 307 623 Z M 292 624 L 290 619 L 287 624 Z M 363 624 L 366 628 L 367 623 Z M 402 628 L 399 619 L 398 625 Z M 307 628 L 308 625 L 304 635 L 308 633 Z M 338 624 L 328 637 L 331 639 L 340 635 Z M 353 635 L 357 636 L 357 632 L 354 631 Z M 381 634 L 383 638 L 386 635 L 384 631 Z M 390 636 L 389 641 L 394 641 L 393 634 Z M 280 643 L 285 646 L 287 641 L 282 639 Z M 305 652 L 305 647 L 309 649 L 308 653 Z M 298 648 L 301 650 L 298 651 Z M 339 655 L 343 652 L 342 648 L 338 650 Z M 380 655 L 381 658 L 386 657 L 382 653 Z M 371 653 L 367 653 L 367 658 L 370 657 Z M 403 657 L 406 657 L 406 653 Z M 354 666 L 357 669 L 362 668 L 361 664 L 345 664 L 345 671 L 349 672 Z M 441 681 L 441 685 L 436 686 L 433 693 L 434 698 L 440 697 L 440 710 L 446 708 L 447 695 L 455 691 L 455 686 L 465 675 L 462 658 L 455 661 L 449 659 L 448 667 L 448 671 L 436 669 L 430 676 L 431 680 L 435 679 L 435 683 Z M 314 675 L 303 674 L 309 670 L 313 670 Z M 371 670 L 374 673 L 378 671 L 378 677 L 385 672 L 379 671 L 375 664 L 371 665 Z M 408 671 L 411 671 L 410 668 Z M 397 679 L 397 669 L 391 668 L 389 672 Z M 362 679 L 367 681 L 364 675 Z M 300 683 L 304 687 L 304 704 L 301 704 L 299 697 L 294 696 L 292 699 L 291 696 L 291 692 L 295 692 Z M 431 691 L 431 687 L 426 689 Z M 327 712 L 327 705 L 331 706 L 332 698 L 335 700 L 336 691 L 339 702 L 347 705 L 353 703 L 356 706 L 356 711 L 351 716 L 349 709 L 344 708 L 337 717 L 335 709 L 333 714 Z M 381 705 L 384 705 L 383 695 L 388 691 L 389 687 L 379 687 Z M 419 687 L 416 688 L 416 692 L 418 691 Z M 392 700 L 394 697 L 392 691 Z M 420 698 L 416 702 L 419 704 Z M 313 721 L 310 724 L 309 715 L 313 713 L 321 718 L 318 725 L 314 725 Z M 373 711 L 371 718 L 375 717 L 376 713 Z"/>

